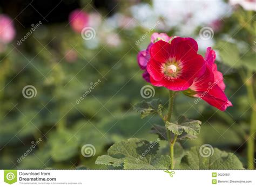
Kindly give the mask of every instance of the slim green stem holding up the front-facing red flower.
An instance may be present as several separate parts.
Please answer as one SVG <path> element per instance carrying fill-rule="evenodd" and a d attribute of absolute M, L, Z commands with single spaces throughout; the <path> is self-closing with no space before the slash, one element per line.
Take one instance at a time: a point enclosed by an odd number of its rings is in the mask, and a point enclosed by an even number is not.
<path fill-rule="evenodd" d="M 172 111 L 173 111 L 173 102 L 174 102 L 174 97 L 176 95 L 176 92 L 169 90 L 169 107 L 168 107 L 168 113 L 167 113 L 167 118 L 166 121 L 171 122 L 171 117 L 172 117 Z M 171 140 L 171 134 L 170 131 L 167 130 L 166 132 L 167 134 L 167 139 L 169 142 L 169 146 L 170 146 L 170 157 L 171 157 L 171 168 L 174 168 L 174 143 L 177 140 L 177 136 L 174 136 L 174 139 Z"/>

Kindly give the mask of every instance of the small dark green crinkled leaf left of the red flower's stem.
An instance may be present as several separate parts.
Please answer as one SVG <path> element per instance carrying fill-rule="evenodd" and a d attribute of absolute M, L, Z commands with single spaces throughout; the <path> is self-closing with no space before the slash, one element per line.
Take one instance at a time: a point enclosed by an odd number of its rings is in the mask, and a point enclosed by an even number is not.
<path fill-rule="evenodd" d="M 140 113 L 141 118 L 145 118 L 150 114 L 154 114 L 154 113 L 161 114 L 161 110 L 163 109 L 163 106 L 161 105 L 160 99 L 153 99 L 150 102 L 146 102 L 145 100 L 143 100 L 142 102 L 136 104 L 134 106 L 134 109 Z"/>

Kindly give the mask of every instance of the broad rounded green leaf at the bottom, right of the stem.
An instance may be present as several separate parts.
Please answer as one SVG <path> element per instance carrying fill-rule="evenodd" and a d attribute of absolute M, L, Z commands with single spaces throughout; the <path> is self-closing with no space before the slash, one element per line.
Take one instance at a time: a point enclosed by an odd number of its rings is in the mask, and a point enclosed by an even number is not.
<path fill-rule="evenodd" d="M 178 169 L 244 169 L 233 153 L 212 147 L 192 147 L 181 159 Z"/>

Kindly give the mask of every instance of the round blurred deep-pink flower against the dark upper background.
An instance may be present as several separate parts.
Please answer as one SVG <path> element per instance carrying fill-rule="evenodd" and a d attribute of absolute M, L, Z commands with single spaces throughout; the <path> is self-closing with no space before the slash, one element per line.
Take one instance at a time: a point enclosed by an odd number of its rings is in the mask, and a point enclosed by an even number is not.
<path fill-rule="evenodd" d="M 80 9 L 73 10 L 69 15 L 69 23 L 76 32 L 81 32 L 89 23 L 89 15 Z"/>

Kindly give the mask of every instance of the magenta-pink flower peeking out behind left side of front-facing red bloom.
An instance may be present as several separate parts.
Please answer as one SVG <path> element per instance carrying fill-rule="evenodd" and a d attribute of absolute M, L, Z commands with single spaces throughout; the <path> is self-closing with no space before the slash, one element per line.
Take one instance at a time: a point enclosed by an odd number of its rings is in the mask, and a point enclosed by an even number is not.
<path fill-rule="evenodd" d="M 154 44 L 154 42 L 158 40 L 164 40 L 164 41 L 170 41 L 172 37 L 169 37 L 169 35 L 165 33 L 153 33 L 151 35 L 151 42 L 147 46 L 146 50 L 140 51 L 137 56 L 138 64 L 140 69 L 144 70 L 144 73 L 142 74 L 143 78 L 147 81 L 150 82 L 150 75 L 146 70 L 147 67 L 147 62 L 150 60 L 150 48 Z"/>

